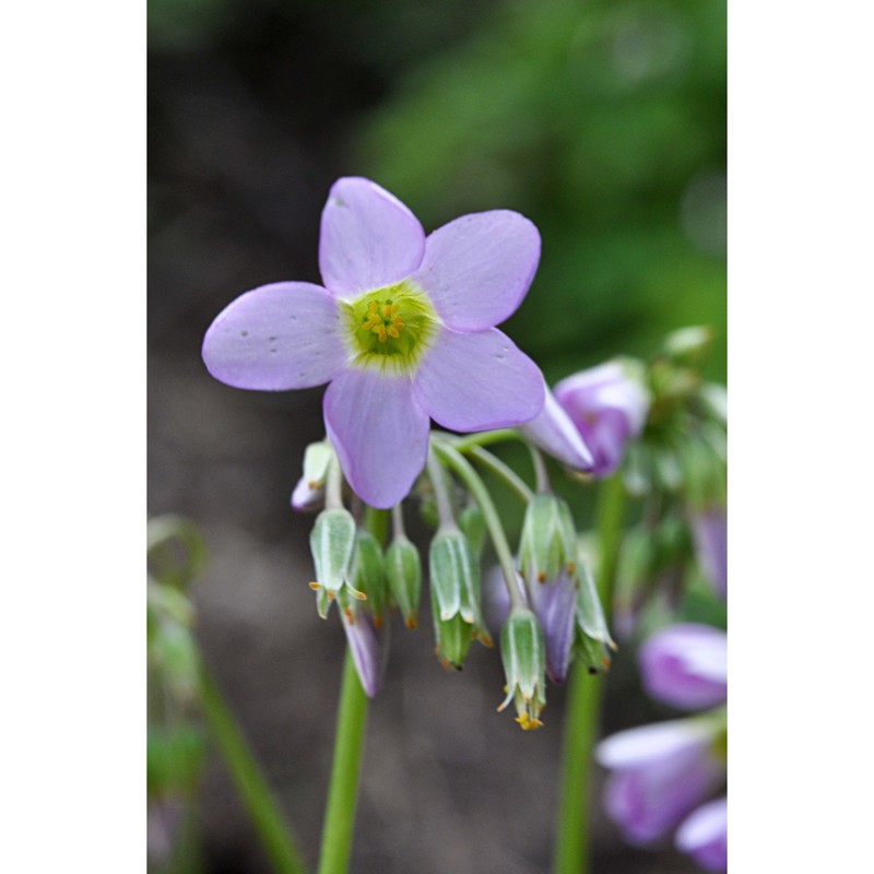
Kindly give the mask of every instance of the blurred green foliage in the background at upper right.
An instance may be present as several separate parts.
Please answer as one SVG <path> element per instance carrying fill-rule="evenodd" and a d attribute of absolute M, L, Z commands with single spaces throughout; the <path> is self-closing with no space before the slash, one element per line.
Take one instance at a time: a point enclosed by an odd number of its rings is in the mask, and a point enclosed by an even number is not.
<path fill-rule="evenodd" d="M 426 227 L 516 209 L 543 236 L 508 332 L 550 381 L 669 330 L 725 374 L 722 0 L 541 0 L 423 58 L 356 138 Z"/>

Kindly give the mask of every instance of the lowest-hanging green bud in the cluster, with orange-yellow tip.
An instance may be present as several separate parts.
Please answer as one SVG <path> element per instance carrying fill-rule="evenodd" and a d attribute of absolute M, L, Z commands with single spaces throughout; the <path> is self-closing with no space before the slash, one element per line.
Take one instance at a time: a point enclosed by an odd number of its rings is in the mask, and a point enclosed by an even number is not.
<path fill-rule="evenodd" d="M 500 633 L 500 659 L 507 677 L 507 697 L 498 707 L 512 701 L 516 721 L 523 731 L 539 729 L 546 706 L 546 646 L 538 617 L 524 607 L 511 611 Z"/>

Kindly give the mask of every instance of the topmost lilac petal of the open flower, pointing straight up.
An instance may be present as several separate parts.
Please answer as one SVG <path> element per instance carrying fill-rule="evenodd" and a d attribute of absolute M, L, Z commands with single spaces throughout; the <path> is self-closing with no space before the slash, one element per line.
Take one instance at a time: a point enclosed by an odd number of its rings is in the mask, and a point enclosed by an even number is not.
<path fill-rule="evenodd" d="M 319 268 L 331 292 L 350 295 L 399 282 L 424 252 L 425 232 L 398 198 L 361 177 L 333 184 L 319 239 Z"/>

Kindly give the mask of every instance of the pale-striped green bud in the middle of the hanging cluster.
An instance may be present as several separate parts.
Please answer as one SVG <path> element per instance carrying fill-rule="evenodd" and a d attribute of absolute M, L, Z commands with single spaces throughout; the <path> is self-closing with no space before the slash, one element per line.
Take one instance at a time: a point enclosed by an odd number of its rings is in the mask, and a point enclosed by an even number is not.
<path fill-rule="evenodd" d="M 471 641 L 492 638 L 482 617 L 480 563 L 457 528 L 437 532 L 428 552 L 437 656 L 446 668 L 461 669 Z"/>

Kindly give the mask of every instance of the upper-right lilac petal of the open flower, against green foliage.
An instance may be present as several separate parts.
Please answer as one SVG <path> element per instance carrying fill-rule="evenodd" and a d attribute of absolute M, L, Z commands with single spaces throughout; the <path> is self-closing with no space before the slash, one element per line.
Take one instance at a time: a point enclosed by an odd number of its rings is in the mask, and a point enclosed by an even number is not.
<path fill-rule="evenodd" d="M 522 303 L 540 262 L 538 228 L 510 210 L 462 215 L 428 236 L 411 277 L 458 331 L 482 331 Z"/>

